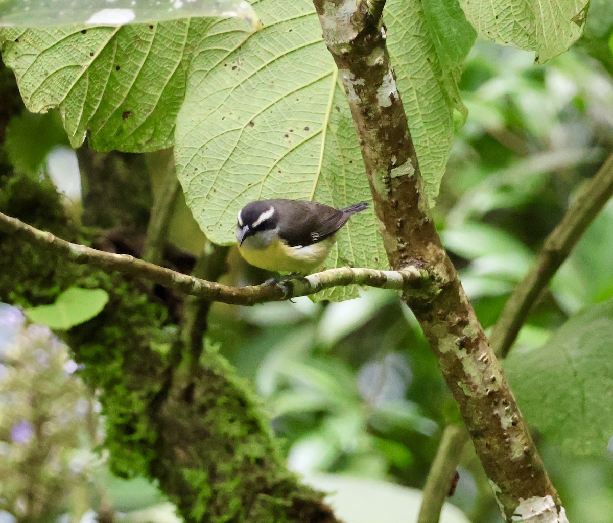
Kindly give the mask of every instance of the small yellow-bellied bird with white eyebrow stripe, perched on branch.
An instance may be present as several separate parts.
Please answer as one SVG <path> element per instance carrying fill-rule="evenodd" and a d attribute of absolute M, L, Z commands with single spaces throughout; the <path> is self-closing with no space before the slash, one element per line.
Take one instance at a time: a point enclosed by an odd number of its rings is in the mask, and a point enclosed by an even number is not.
<path fill-rule="evenodd" d="M 256 200 L 238 213 L 238 250 L 251 265 L 309 274 L 326 261 L 335 234 L 366 202 L 337 210 L 303 200 Z"/>

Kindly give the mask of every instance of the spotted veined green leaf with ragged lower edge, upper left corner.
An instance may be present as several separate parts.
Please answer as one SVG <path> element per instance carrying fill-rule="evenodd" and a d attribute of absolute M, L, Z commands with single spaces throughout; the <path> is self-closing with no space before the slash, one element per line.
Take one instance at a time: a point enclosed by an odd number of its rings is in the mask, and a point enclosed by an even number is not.
<path fill-rule="evenodd" d="M 2 59 L 32 112 L 59 107 L 70 143 L 97 150 L 170 147 L 194 34 L 210 20 L 120 28 L 0 29 Z"/>

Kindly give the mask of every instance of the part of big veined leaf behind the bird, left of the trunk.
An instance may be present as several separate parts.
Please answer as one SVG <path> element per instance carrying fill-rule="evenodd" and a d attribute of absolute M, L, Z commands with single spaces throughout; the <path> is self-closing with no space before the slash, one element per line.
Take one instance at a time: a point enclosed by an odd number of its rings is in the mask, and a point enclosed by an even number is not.
<path fill-rule="evenodd" d="M 283 196 L 342 207 L 370 198 L 313 4 L 255 6 L 261 31 L 238 35 L 236 22 L 224 20 L 203 40 L 177 120 L 177 175 L 200 227 L 218 243 L 234 241 L 237 212 L 250 200 Z M 213 52 L 219 49 L 226 52 Z M 381 267 L 385 259 L 370 209 L 338 235 L 327 266 Z"/>

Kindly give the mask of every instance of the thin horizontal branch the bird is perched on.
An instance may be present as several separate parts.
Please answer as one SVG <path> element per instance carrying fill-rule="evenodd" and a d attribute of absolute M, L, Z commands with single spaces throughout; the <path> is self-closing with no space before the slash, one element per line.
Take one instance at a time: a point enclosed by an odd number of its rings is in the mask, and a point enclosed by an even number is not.
<path fill-rule="evenodd" d="M 15 234 L 32 245 L 61 254 L 68 261 L 89 264 L 106 271 L 118 271 L 145 278 L 184 294 L 231 305 L 254 305 L 255 303 L 289 300 L 315 294 L 336 286 L 366 285 L 385 289 L 398 289 L 411 294 L 424 293 L 435 296 L 439 283 L 425 269 L 407 266 L 403 270 L 354 269 L 338 267 L 324 270 L 307 277 L 246 287 L 230 287 L 214 281 L 200 280 L 192 276 L 160 267 L 129 254 L 107 253 L 79 243 L 70 243 L 55 237 L 50 232 L 39 231 L 23 221 L 0 213 L 0 230 Z"/>

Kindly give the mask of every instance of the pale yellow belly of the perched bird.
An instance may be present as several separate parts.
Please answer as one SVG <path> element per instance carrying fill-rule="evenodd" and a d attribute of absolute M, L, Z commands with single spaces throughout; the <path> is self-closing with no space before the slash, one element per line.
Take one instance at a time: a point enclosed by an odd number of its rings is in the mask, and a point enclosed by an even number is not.
<path fill-rule="evenodd" d="M 321 242 L 297 248 L 289 247 L 282 240 L 275 239 L 263 250 L 249 250 L 243 244 L 238 247 L 238 251 L 249 264 L 260 269 L 310 274 L 324 264 L 335 241 L 332 236 Z"/>

